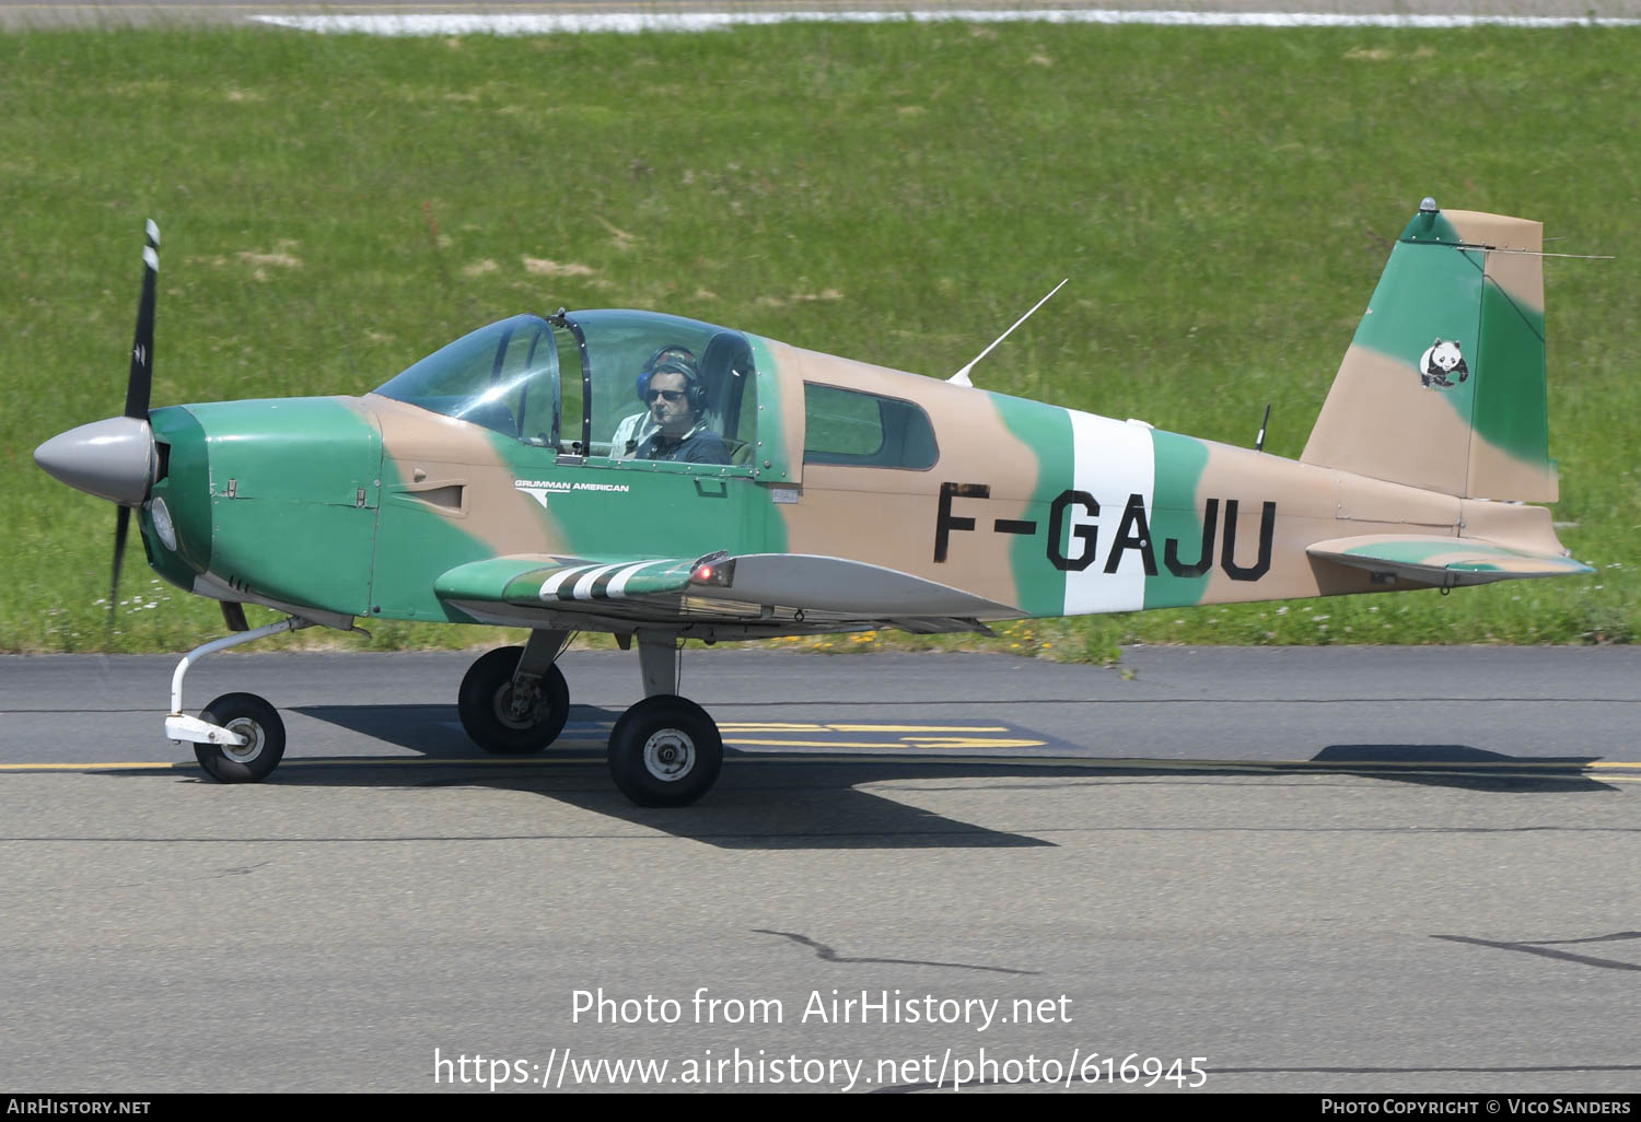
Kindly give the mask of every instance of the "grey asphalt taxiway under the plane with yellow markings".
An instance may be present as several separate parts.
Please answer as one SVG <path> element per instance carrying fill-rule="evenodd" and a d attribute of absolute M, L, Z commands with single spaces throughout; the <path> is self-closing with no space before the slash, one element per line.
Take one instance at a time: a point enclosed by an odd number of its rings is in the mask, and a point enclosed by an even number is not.
<path fill-rule="evenodd" d="M 0 659 L 0 1086 L 1641 1088 L 1633 648 L 691 653 L 683 810 L 604 773 L 633 656 L 527 761 L 469 659 L 205 661 L 286 715 L 259 786 L 171 659 Z"/>

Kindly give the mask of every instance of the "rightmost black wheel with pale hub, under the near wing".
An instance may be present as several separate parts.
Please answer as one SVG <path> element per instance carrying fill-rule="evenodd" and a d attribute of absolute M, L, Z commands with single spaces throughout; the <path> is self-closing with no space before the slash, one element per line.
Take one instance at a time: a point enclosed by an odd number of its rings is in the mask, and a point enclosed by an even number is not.
<path fill-rule="evenodd" d="M 640 807 L 688 807 L 717 782 L 724 738 L 693 700 L 645 697 L 610 730 L 609 764 L 615 786 Z"/>

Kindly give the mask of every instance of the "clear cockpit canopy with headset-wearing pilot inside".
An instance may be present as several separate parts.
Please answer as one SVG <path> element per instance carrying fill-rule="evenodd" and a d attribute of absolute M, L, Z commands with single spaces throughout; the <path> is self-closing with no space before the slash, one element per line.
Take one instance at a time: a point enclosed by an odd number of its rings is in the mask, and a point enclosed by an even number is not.
<path fill-rule="evenodd" d="M 560 456 L 742 464 L 755 372 L 738 331 L 656 312 L 574 312 L 491 323 L 376 392 Z M 666 454 L 679 446 L 696 453 Z"/>

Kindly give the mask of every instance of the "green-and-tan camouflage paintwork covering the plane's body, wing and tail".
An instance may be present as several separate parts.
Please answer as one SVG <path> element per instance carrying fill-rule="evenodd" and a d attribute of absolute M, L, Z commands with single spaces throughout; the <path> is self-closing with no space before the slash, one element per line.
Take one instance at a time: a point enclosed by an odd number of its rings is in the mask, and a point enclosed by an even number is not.
<path fill-rule="evenodd" d="M 1520 505 L 1556 497 L 1539 246 L 1421 212 L 1300 461 L 745 336 L 743 464 L 565 456 L 379 394 L 153 410 L 177 546 L 144 509 L 144 548 L 320 622 L 702 638 L 1587 572 Z M 806 464 L 806 382 L 917 405 L 934 466 Z"/>

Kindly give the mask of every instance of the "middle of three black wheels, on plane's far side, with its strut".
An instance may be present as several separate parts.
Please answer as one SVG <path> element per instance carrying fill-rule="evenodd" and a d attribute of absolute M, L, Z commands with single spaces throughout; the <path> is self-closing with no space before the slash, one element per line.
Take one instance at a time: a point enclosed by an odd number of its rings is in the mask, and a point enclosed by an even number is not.
<path fill-rule="evenodd" d="M 456 714 L 484 751 L 517 756 L 542 751 L 569 720 L 569 686 L 558 656 L 569 632 L 530 632 L 525 646 L 484 654 L 461 679 Z"/>

